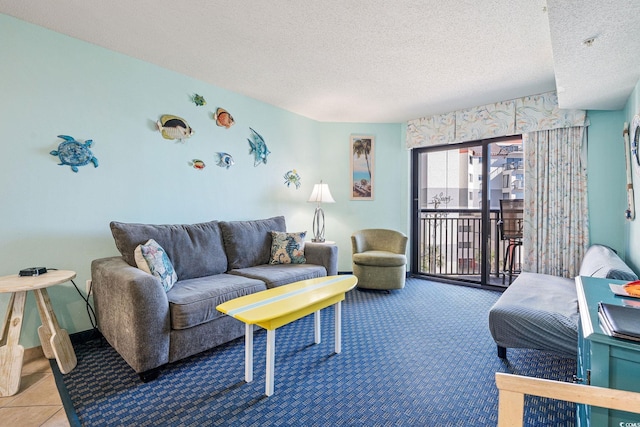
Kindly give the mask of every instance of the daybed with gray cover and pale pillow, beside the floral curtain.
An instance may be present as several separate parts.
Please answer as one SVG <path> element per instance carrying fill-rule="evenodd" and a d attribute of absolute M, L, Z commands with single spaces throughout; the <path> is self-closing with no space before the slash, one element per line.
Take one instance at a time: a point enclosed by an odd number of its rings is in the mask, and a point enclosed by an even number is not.
<path fill-rule="evenodd" d="M 612 249 L 603 245 L 587 250 L 579 275 L 638 279 Z M 523 272 L 489 311 L 489 329 L 500 358 L 507 357 L 507 348 L 546 350 L 575 357 L 578 317 L 574 279 Z"/>

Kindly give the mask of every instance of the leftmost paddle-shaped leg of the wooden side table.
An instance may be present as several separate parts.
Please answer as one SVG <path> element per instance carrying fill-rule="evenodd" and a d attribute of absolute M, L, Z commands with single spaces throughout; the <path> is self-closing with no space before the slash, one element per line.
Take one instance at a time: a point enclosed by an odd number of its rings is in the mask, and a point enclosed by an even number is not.
<path fill-rule="evenodd" d="M 0 347 L 0 396 L 13 396 L 20 390 L 22 360 L 24 347 L 19 344 L 24 304 L 27 292 L 15 292 L 11 297 L 11 305 L 7 308 L 7 316 L 3 329 L 3 346 Z"/>

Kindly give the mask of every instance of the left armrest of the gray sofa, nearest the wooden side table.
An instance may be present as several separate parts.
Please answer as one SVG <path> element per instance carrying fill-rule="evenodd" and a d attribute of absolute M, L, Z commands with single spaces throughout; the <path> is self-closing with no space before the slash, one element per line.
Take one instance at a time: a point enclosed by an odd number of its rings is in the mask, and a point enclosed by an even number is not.
<path fill-rule="evenodd" d="M 98 329 L 137 372 L 169 361 L 169 301 L 160 281 L 122 257 L 91 263 Z"/>

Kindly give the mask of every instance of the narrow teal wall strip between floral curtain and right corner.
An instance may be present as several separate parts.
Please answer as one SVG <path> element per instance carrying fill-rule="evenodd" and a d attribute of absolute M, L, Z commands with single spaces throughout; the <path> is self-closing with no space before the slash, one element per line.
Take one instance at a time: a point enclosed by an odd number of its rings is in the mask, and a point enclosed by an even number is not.
<path fill-rule="evenodd" d="M 589 111 L 588 194 L 591 244 L 614 248 L 624 258 L 627 209 L 622 111 Z"/>

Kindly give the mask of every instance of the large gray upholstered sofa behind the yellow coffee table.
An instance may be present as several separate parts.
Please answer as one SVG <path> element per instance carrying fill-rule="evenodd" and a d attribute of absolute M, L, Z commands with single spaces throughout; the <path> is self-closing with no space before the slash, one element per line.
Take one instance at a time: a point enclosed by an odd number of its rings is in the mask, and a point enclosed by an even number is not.
<path fill-rule="evenodd" d="M 334 245 L 306 243 L 302 264 L 269 264 L 271 231 L 286 231 L 282 216 L 190 225 L 112 222 L 121 256 L 91 264 L 98 329 L 140 375 L 244 334 L 244 324 L 216 310 L 230 299 L 298 280 L 337 274 Z M 154 239 L 178 281 L 165 291 L 137 268 L 134 250 Z"/>

